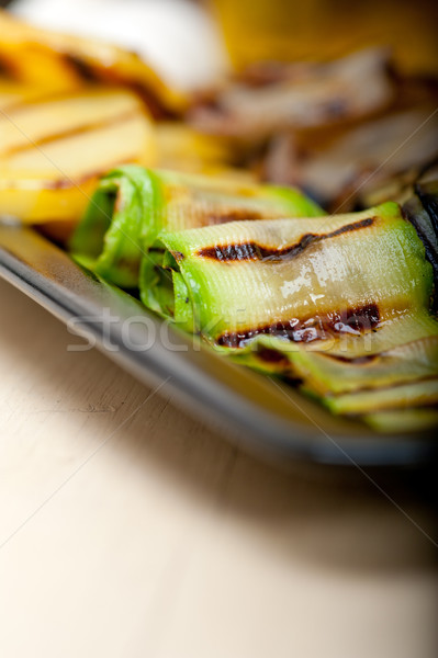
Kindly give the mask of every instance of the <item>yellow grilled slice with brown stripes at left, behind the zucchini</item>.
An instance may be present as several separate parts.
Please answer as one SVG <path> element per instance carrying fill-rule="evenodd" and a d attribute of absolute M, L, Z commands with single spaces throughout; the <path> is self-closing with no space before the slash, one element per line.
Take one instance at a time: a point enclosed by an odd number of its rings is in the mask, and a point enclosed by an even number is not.
<path fill-rule="evenodd" d="M 77 220 L 109 168 L 155 159 L 150 118 L 130 91 L 89 89 L 10 105 L 0 113 L 0 214 Z"/>

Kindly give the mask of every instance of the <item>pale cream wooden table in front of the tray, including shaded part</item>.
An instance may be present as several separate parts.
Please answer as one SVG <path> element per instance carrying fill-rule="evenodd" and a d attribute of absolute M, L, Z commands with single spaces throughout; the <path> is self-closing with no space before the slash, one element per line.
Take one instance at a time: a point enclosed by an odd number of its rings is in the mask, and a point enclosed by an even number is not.
<path fill-rule="evenodd" d="M 0 304 L 2 658 L 438 655 L 423 478 L 279 473 Z"/>

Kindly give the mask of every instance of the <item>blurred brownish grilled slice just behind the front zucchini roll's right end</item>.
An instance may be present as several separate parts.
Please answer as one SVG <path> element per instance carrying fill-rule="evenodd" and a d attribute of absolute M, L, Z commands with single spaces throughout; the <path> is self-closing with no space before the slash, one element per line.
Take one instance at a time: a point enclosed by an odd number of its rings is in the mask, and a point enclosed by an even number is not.
<path fill-rule="evenodd" d="M 268 149 L 266 178 L 308 190 L 335 212 L 393 200 L 391 183 L 400 184 L 401 174 L 438 156 L 435 107 L 436 102 L 392 112 L 348 126 L 336 139 L 327 132 L 304 147 L 294 136 L 280 135 Z"/>

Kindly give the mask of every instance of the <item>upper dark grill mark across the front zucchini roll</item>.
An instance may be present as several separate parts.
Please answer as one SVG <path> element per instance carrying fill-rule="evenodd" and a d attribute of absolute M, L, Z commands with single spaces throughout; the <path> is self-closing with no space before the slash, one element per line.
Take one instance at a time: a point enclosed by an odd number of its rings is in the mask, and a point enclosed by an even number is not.
<path fill-rule="evenodd" d="M 336 230 L 328 234 L 305 234 L 295 245 L 288 247 L 274 248 L 263 247 L 257 242 L 240 242 L 234 245 L 215 245 L 214 247 L 203 247 L 196 251 L 196 256 L 201 258 L 210 258 L 218 261 L 244 261 L 244 260 L 290 260 L 300 256 L 305 249 L 323 240 L 336 238 L 342 234 L 360 230 L 371 226 L 375 217 L 367 217 L 360 222 L 346 224 Z"/>

